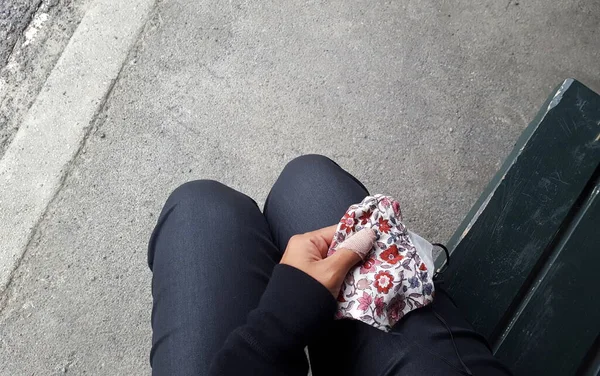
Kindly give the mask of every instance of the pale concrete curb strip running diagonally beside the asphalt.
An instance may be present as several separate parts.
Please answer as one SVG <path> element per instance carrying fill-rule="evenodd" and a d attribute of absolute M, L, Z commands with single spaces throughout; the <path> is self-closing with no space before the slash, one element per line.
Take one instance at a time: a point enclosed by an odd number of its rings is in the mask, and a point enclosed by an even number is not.
<path fill-rule="evenodd" d="M 0 293 L 117 78 L 155 0 L 96 0 L 0 160 Z"/>

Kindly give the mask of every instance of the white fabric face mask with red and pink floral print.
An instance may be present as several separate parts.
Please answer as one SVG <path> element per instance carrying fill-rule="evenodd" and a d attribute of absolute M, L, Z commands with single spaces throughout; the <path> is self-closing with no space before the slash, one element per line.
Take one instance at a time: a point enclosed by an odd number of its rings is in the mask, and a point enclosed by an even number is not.
<path fill-rule="evenodd" d="M 408 231 L 398 201 L 375 195 L 350 206 L 337 226 L 328 256 L 363 228 L 372 229 L 377 240 L 364 261 L 346 276 L 336 318 L 360 320 L 387 332 L 408 312 L 433 301 L 433 247 Z"/>

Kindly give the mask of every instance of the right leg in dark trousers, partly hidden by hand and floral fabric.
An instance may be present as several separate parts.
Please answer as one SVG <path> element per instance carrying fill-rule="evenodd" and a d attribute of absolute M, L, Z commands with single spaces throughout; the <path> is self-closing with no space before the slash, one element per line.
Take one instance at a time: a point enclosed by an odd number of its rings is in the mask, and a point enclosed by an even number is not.
<path fill-rule="evenodd" d="M 265 204 L 275 244 L 283 250 L 292 235 L 337 223 L 348 206 L 367 195 L 358 180 L 326 157 L 294 159 L 277 179 Z M 407 315 L 393 333 L 358 321 L 339 320 L 317 343 L 309 345 L 314 375 L 332 370 L 343 375 L 461 374 L 464 367 L 456 349 L 472 371 L 501 374 L 503 369 L 485 341 L 441 291 L 433 307 Z"/>

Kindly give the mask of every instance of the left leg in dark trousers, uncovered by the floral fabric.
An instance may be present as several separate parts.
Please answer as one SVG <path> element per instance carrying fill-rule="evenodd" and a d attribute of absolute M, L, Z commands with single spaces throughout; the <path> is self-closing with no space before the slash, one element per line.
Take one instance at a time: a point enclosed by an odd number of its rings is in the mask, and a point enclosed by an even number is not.
<path fill-rule="evenodd" d="M 177 188 L 150 239 L 154 375 L 204 375 L 246 321 L 281 253 L 249 197 L 214 181 Z M 299 367 L 307 367 L 304 354 Z"/>

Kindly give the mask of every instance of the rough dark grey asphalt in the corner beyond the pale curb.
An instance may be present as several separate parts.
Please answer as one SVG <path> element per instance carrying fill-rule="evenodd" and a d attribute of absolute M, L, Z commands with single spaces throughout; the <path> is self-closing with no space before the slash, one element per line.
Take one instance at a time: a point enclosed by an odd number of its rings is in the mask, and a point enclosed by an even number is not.
<path fill-rule="evenodd" d="M 92 1 L 0 2 L 0 157 Z"/>

